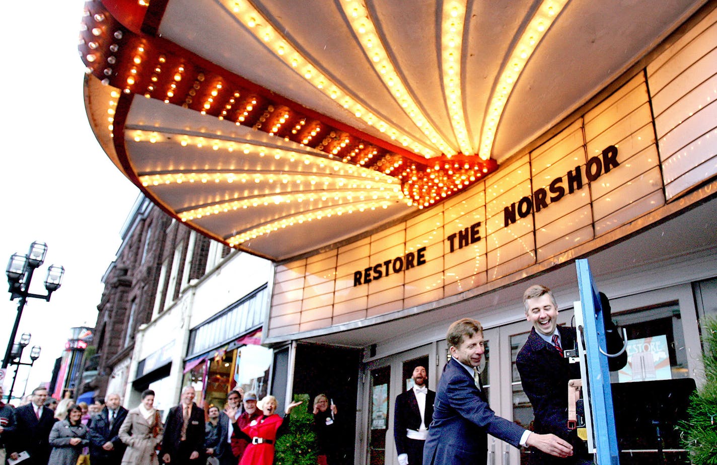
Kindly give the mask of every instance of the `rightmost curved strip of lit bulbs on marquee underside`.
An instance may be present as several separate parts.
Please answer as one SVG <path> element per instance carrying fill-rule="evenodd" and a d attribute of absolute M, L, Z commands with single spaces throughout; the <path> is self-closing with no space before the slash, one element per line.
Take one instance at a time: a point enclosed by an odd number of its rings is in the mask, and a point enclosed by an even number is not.
<path fill-rule="evenodd" d="M 525 69 L 528 59 L 530 59 L 541 39 L 549 31 L 553 21 L 559 16 L 568 0 L 546 0 L 538 7 L 533 18 L 528 23 L 521 38 L 518 39 L 513 50 L 510 52 L 510 58 L 503 68 L 500 77 L 498 77 L 498 85 L 495 86 L 493 95 L 490 96 L 490 109 L 483 119 L 483 131 L 480 134 L 479 155 L 483 160 L 490 158 L 493 150 L 493 141 L 495 140 L 495 129 L 498 127 L 500 117 L 505 110 L 505 103 L 508 101 L 508 95 L 513 92 L 518 78 Z"/>

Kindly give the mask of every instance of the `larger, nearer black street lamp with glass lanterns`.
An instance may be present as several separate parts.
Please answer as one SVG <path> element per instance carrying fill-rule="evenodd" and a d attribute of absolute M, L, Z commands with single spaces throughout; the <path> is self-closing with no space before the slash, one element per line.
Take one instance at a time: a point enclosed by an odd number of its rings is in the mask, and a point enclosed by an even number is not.
<path fill-rule="evenodd" d="M 17 335 L 17 328 L 20 325 L 20 317 L 25 307 L 28 297 L 35 299 L 43 299 L 49 302 L 52 292 L 60 289 L 62 285 L 62 275 L 65 274 L 65 268 L 58 265 L 50 265 L 47 269 L 47 277 L 45 277 L 44 285 L 47 289 L 47 295 L 32 294 L 30 291 L 30 282 L 35 269 L 40 267 L 44 262 L 45 254 L 47 254 L 47 244 L 44 242 L 33 242 L 26 255 L 12 254 L 7 264 L 5 274 L 7 274 L 7 282 L 10 284 L 8 292 L 10 292 L 10 300 L 18 299 L 17 316 L 15 324 L 10 333 L 10 339 L 7 342 L 7 350 L 2 361 L 2 369 L 6 369 L 10 364 L 13 341 Z"/>

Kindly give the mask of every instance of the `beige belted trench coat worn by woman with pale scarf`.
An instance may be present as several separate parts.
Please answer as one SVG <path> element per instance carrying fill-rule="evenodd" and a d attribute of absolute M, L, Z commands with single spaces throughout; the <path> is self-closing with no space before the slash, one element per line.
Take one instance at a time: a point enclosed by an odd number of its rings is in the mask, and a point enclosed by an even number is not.
<path fill-rule="evenodd" d="M 120 427 L 120 441 L 127 444 L 127 450 L 122 457 L 125 465 L 158 465 L 159 460 L 154 450 L 162 441 L 162 422 L 157 421 L 159 434 L 152 436 L 152 427 L 144 419 L 139 408 L 133 408 L 127 413 L 125 422 Z"/>

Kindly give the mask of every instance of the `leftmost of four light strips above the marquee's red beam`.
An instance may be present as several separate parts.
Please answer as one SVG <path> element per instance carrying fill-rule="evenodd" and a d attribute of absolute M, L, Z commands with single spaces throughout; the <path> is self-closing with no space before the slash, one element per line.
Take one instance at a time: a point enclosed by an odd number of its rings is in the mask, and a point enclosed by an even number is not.
<path fill-rule="evenodd" d="M 298 50 L 285 39 L 282 33 L 277 31 L 270 21 L 267 21 L 262 16 L 260 11 L 255 9 L 255 6 L 253 6 L 250 2 L 246 2 L 242 3 L 242 8 L 239 9 L 239 11 L 235 11 L 233 9 L 234 0 L 222 0 L 222 3 L 227 7 L 227 11 L 232 11 L 232 14 L 234 14 L 237 20 L 244 24 L 244 27 L 247 28 L 247 32 L 250 32 L 258 40 L 260 40 L 260 42 L 264 43 L 265 47 L 267 47 L 270 52 L 274 53 L 277 58 L 291 67 L 294 72 L 302 77 L 302 79 L 305 79 L 316 89 L 320 90 L 320 92 L 324 95 L 327 95 L 334 100 L 343 102 L 346 98 L 348 98 L 349 103 L 346 110 L 351 112 L 352 115 L 356 115 L 356 111 L 361 107 L 359 102 L 348 95 L 347 92 L 341 90 L 336 83 L 331 82 L 331 80 L 328 79 L 327 76 L 323 75 L 317 67 L 310 63 L 308 59 L 303 57 L 300 52 L 298 52 Z M 260 18 L 262 19 L 261 21 Z M 269 42 L 265 42 L 267 34 L 270 34 L 271 37 Z M 305 77 L 306 74 L 310 74 L 309 79 Z M 343 103 L 341 105 L 344 106 Z M 388 123 L 383 120 L 377 120 L 377 117 L 373 114 L 373 112 L 364 112 L 360 110 L 359 112 L 361 113 L 361 117 L 359 118 L 367 124 L 383 125 L 383 130 L 379 128 L 381 132 L 385 132 L 386 128 L 388 128 Z M 392 139 L 399 136 L 407 138 L 412 144 L 412 150 L 416 153 L 420 153 L 426 158 L 440 155 L 440 151 L 436 150 L 436 148 L 427 145 L 422 140 L 414 139 L 408 134 L 404 134 L 402 132 L 399 133 L 397 128 L 391 128 L 391 133 Z"/>

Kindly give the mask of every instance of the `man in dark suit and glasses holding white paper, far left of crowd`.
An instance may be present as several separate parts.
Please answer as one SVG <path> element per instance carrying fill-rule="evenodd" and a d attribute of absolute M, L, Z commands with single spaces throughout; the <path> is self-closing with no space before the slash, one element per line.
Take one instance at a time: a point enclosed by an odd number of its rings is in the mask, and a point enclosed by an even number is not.
<path fill-rule="evenodd" d="M 35 388 L 32 401 L 15 410 L 15 432 L 7 447 L 13 460 L 27 451 L 30 458 L 23 465 L 46 465 L 49 459 L 49 431 L 55 419 L 52 410 L 44 406 L 46 400 L 47 389 Z"/>

